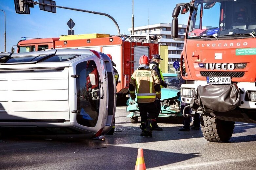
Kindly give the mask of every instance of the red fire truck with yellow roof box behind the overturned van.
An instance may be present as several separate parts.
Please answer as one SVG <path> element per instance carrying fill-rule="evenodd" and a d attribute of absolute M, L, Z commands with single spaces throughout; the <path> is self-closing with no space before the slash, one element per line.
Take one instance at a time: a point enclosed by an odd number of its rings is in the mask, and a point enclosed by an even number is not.
<path fill-rule="evenodd" d="M 105 54 L 111 54 L 116 70 L 119 73 L 117 94 L 128 93 L 131 74 L 139 66 L 142 55 L 151 56 L 159 53 L 158 43 L 151 43 L 156 36 L 136 38 L 131 36 L 110 36 L 108 34 L 67 35 L 60 38 L 45 38 L 19 41 L 17 52 L 40 51 L 45 49 L 93 49 Z"/>

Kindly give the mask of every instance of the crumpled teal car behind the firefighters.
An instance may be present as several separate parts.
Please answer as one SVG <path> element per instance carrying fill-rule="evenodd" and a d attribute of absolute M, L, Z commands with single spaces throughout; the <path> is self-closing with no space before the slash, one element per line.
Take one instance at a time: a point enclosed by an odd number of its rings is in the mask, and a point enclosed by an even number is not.
<path fill-rule="evenodd" d="M 161 89 L 161 112 L 159 114 L 159 117 L 182 116 L 180 108 L 180 87 L 177 74 L 165 73 L 163 74 L 163 77 L 167 82 L 168 87 Z M 126 111 L 129 112 L 127 117 L 130 118 L 131 123 L 138 123 L 140 112 L 137 104 L 137 99 L 135 98 L 134 101 L 129 97 L 126 104 Z"/>

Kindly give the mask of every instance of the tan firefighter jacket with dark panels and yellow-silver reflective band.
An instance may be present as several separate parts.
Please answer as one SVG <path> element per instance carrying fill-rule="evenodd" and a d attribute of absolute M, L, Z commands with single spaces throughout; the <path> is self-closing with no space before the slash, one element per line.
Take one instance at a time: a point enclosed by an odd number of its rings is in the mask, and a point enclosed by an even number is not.
<path fill-rule="evenodd" d="M 130 97 L 137 95 L 138 103 L 151 103 L 161 98 L 159 78 L 152 69 L 137 69 L 129 83 Z M 136 93 L 135 93 L 136 92 Z"/>

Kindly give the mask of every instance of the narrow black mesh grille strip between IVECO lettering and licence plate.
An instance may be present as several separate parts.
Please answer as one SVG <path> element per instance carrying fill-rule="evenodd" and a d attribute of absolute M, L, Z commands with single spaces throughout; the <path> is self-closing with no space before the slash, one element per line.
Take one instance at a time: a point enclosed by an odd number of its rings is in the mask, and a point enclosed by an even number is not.
<path fill-rule="evenodd" d="M 245 72 L 215 72 L 215 71 L 200 71 L 201 76 L 223 76 L 223 77 L 243 77 Z"/>

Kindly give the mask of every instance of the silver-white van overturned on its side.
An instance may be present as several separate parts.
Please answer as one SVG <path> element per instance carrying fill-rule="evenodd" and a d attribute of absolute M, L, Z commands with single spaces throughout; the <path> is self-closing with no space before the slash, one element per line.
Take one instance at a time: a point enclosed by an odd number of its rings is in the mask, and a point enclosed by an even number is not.
<path fill-rule="evenodd" d="M 81 75 L 77 73 L 79 69 Z M 90 79 L 85 73 L 95 74 L 97 85 L 87 83 Z M 111 60 L 103 53 L 54 49 L 0 54 L 1 131 L 10 127 L 46 127 L 58 137 L 96 137 L 112 127 L 115 96 Z"/>

